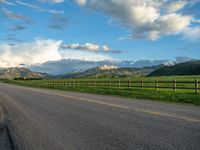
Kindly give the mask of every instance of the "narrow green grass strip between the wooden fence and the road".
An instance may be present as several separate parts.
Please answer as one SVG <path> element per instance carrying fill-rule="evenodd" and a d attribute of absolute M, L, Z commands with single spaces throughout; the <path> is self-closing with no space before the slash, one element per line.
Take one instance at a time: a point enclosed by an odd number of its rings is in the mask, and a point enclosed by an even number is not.
<path fill-rule="evenodd" d="M 29 87 L 40 87 L 40 88 L 49 88 L 49 89 L 58 89 L 64 91 L 75 91 L 75 92 L 103 94 L 103 95 L 117 95 L 128 98 L 149 99 L 154 101 L 200 105 L 200 94 L 192 92 L 190 93 L 173 92 L 162 89 L 156 91 L 154 89 L 134 89 L 134 88 L 73 87 L 73 86 L 63 86 L 63 85 L 47 86 L 46 84 L 33 84 L 32 82 L 19 82 L 19 81 L 10 81 L 9 83 L 22 86 L 29 86 Z"/>

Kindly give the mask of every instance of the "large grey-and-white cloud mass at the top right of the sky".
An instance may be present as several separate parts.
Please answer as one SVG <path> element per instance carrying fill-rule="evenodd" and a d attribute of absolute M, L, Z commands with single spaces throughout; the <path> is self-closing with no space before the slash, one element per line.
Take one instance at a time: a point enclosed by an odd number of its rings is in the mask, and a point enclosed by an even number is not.
<path fill-rule="evenodd" d="M 100 11 L 130 28 L 129 38 L 157 40 L 161 36 L 180 34 L 195 18 L 182 14 L 193 1 L 178 0 L 74 0 L 78 5 Z"/>

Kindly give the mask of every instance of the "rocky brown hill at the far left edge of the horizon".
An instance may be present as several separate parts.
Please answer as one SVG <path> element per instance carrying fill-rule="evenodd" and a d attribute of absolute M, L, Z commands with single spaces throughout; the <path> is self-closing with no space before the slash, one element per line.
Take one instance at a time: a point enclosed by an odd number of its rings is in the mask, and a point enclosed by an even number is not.
<path fill-rule="evenodd" d="M 0 70 L 0 78 L 3 79 L 16 79 L 16 78 L 46 78 L 49 75 L 46 73 L 32 72 L 25 68 L 6 68 Z"/>

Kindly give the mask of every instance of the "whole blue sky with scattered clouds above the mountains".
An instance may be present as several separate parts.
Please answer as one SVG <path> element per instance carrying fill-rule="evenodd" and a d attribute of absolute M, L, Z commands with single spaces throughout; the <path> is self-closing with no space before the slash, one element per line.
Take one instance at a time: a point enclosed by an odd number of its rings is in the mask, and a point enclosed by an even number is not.
<path fill-rule="evenodd" d="M 0 0 L 0 67 L 200 58 L 199 0 Z"/>

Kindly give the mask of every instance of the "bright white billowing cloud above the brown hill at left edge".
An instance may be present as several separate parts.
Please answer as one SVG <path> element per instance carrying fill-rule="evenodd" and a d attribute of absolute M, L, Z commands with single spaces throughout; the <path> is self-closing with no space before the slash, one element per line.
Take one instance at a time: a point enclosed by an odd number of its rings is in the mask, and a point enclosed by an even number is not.
<path fill-rule="evenodd" d="M 31 43 L 0 45 L 0 67 L 13 67 L 20 64 L 37 64 L 48 60 L 59 60 L 61 41 L 37 39 Z"/>

